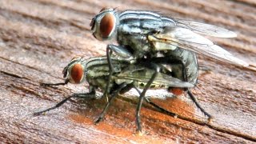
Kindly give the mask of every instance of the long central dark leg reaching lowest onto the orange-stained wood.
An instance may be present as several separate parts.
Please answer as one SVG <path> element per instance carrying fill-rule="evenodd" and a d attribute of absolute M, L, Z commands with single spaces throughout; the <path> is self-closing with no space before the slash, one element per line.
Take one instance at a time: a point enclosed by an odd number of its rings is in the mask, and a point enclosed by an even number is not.
<path fill-rule="evenodd" d="M 139 96 L 139 100 L 138 100 L 138 106 L 136 109 L 136 124 L 137 124 L 137 131 L 139 133 L 142 132 L 142 126 L 141 126 L 141 118 L 140 118 L 140 111 L 142 108 L 142 102 L 143 99 L 145 98 L 145 94 L 146 94 L 146 90 L 148 90 L 152 84 L 152 82 L 154 82 L 154 78 L 156 78 L 158 76 L 158 73 L 160 71 L 160 68 L 156 65 L 152 65 L 154 66 L 154 74 L 151 76 L 150 81 L 146 83 L 145 88 L 142 90 L 142 94 L 140 94 Z"/>

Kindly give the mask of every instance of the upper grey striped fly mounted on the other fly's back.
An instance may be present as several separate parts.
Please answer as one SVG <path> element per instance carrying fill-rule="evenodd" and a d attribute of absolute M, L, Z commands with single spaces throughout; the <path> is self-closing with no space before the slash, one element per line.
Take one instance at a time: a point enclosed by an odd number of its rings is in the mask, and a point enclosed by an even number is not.
<path fill-rule="evenodd" d="M 119 12 L 111 8 L 102 9 L 92 19 L 90 26 L 94 37 L 98 40 L 114 39 L 118 42 L 118 45 L 109 44 L 106 46 L 110 74 L 104 95 L 109 91 L 111 77 L 114 74 L 115 66 L 111 60 L 112 52 L 117 54 L 119 58 L 126 59 L 126 62 L 134 64 L 143 61 L 152 62 L 155 58 L 163 56 L 163 63 L 171 66 L 171 75 L 174 78 L 193 85 L 196 85 L 198 78 L 196 54 L 204 54 L 210 58 L 237 66 L 249 66 L 248 63 L 235 58 L 228 51 L 214 45 L 214 42 L 201 35 L 218 38 L 237 36 L 234 32 L 218 26 L 170 18 L 165 14 L 158 14 L 153 11 L 125 10 Z M 158 71 L 158 69 L 155 68 L 154 71 Z M 150 78 L 147 84 L 154 82 L 154 78 L 157 77 Z M 177 86 L 170 86 L 170 88 L 172 89 L 170 91 L 177 92 Z M 139 98 L 138 112 L 142 106 L 145 90 Z M 211 115 L 199 105 L 189 88 L 182 90 L 186 91 L 196 106 L 210 119 Z M 138 130 L 141 130 L 139 126 Z"/>

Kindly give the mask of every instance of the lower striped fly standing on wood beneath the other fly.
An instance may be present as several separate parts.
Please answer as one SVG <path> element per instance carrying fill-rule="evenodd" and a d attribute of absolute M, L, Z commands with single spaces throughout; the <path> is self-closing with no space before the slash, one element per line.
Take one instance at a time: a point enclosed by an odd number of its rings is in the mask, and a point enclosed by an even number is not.
<path fill-rule="evenodd" d="M 140 99 L 136 109 L 136 124 L 137 130 L 141 131 L 142 127 L 140 124 L 139 112 L 141 109 L 140 102 L 142 98 L 146 99 L 146 102 L 149 102 L 152 106 L 164 110 L 167 114 L 171 116 L 177 116 L 177 114 L 171 113 L 168 110 L 163 109 L 161 106 L 150 102 L 148 98 L 145 97 L 146 90 L 159 88 L 182 88 L 188 89 L 194 87 L 190 82 L 183 82 L 181 79 L 174 78 L 170 75 L 170 71 L 166 66 L 162 65 L 162 59 L 158 58 L 153 59 L 150 62 L 140 62 L 135 64 L 130 64 L 125 60 L 122 61 L 120 58 L 111 58 L 114 63 L 114 73 L 112 81 L 110 83 L 110 91 L 107 94 L 110 96 L 109 102 L 107 102 L 104 110 L 99 115 L 95 123 L 102 121 L 106 110 L 110 106 L 110 103 L 118 94 L 126 93 L 128 90 L 134 88 L 140 94 Z M 70 98 L 95 98 L 95 90 L 100 88 L 102 90 L 106 87 L 106 82 L 108 81 L 109 67 L 106 57 L 98 58 L 74 58 L 71 62 L 64 68 L 62 71 L 65 82 L 62 83 L 42 83 L 42 86 L 59 86 L 66 85 L 67 83 L 82 83 L 87 81 L 89 83 L 89 93 L 86 94 L 72 94 L 70 97 L 63 99 L 61 102 L 58 102 L 57 105 L 50 107 L 49 109 L 39 111 L 34 113 L 34 115 L 43 114 L 46 111 L 54 110 L 59 106 L 62 106 Z M 143 84 L 143 85 L 142 85 Z M 138 90 L 138 86 L 143 88 L 142 92 Z"/>

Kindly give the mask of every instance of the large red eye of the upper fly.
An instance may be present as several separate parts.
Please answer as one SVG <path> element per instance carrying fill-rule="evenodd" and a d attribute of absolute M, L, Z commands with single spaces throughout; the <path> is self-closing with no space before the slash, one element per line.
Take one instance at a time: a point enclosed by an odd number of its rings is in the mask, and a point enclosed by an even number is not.
<path fill-rule="evenodd" d="M 106 14 L 100 22 L 99 30 L 102 34 L 102 38 L 110 36 L 111 31 L 114 29 L 115 18 L 113 14 Z"/>

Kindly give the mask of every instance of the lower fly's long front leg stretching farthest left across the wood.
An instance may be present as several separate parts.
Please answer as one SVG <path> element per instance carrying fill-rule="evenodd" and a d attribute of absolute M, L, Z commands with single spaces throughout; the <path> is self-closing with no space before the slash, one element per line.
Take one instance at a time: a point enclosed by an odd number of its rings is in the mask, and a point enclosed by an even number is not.
<path fill-rule="evenodd" d="M 89 93 L 86 93 L 86 94 L 72 94 L 70 97 L 67 97 L 65 99 L 63 99 L 61 102 L 58 102 L 55 106 L 52 106 L 46 110 L 42 110 L 42 111 L 38 111 L 38 112 L 35 112 L 34 115 L 40 115 L 40 114 L 43 114 L 47 111 L 50 111 L 50 110 L 54 110 L 56 108 L 58 108 L 59 106 L 62 106 L 66 101 L 70 100 L 70 98 L 88 98 L 88 99 L 93 99 L 95 98 L 95 90 L 94 88 L 92 90 L 90 90 Z"/>

